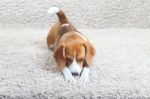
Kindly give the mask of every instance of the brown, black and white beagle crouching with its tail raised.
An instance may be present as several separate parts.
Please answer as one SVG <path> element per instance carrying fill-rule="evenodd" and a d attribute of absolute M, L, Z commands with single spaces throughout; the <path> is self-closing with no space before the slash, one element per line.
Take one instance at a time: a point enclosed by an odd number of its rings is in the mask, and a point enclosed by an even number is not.
<path fill-rule="evenodd" d="M 89 82 L 89 66 L 96 53 L 94 46 L 68 21 L 61 9 L 51 7 L 48 13 L 56 14 L 59 19 L 47 36 L 47 46 L 53 51 L 57 69 L 68 82 L 76 82 L 74 75 L 79 75 L 83 83 Z"/>

